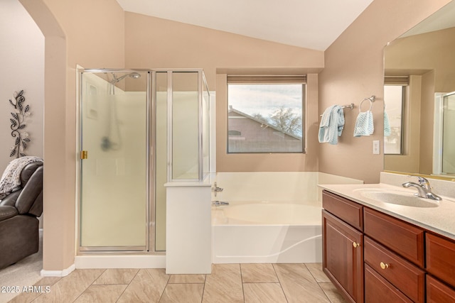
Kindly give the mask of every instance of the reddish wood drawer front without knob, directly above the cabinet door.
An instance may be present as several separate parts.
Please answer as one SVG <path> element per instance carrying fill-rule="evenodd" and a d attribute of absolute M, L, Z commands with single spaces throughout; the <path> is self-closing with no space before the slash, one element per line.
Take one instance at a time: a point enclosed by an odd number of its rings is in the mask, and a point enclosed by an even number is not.
<path fill-rule="evenodd" d="M 363 230 L 362 205 L 323 190 L 322 207 L 323 209 L 326 209 L 326 211 L 350 224 L 350 226 L 353 226 L 360 231 Z"/>

